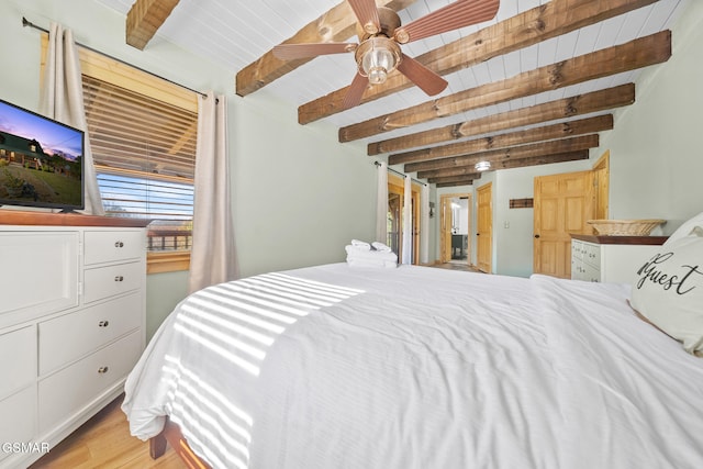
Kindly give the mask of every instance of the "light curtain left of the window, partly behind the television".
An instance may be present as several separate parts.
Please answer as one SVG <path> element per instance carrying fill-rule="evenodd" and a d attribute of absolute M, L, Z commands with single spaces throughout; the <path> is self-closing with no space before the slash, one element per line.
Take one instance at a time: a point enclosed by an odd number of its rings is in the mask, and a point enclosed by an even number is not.
<path fill-rule="evenodd" d="M 70 30 L 51 23 L 44 83 L 40 98 L 40 112 L 71 127 L 86 132 L 83 148 L 83 180 L 86 210 L 83 213 L 104 215 L 96 167 L 88 138 L 83 87 L 80 78 L 78 48 Z"/>

